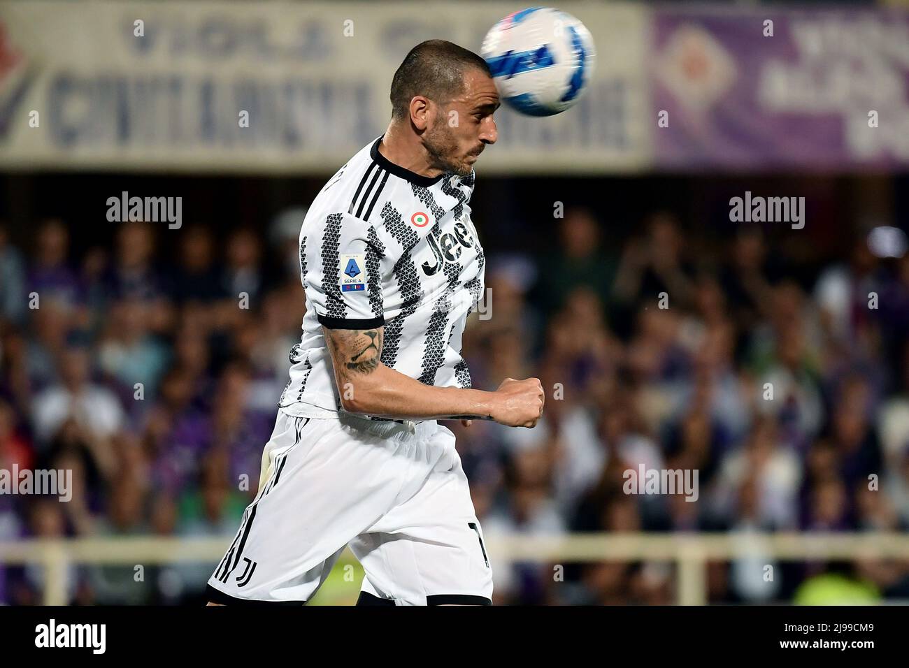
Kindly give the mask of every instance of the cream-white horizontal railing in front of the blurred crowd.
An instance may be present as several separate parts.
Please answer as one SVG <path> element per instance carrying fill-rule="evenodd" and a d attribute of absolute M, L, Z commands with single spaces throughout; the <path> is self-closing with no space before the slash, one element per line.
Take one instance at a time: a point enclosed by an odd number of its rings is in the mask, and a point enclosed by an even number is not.
<path fill-rule="evenodd" d="M 487 534 L 498 563 L 675 563 L 676 603 L 707 601 L 708 562 L 909 559 L 906 533 L 575 533 L 557 537 Z M 0 543 L 0 564 L 45 567 L 43 603 L 65 605 L 67 573 L 75 563 L 134 565 L 217 563 L 229 538 L 79 538 Z"/>

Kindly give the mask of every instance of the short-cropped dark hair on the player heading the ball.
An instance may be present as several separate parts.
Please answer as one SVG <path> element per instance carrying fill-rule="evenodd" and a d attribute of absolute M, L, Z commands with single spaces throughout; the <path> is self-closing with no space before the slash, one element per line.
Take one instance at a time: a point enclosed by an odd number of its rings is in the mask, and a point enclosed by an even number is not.
<path fill-rule="evenodd" d="M 404 118 L 415 95 L 442 104 L 464 93 L 464 73 L 477 69 L 492 76 L 473 51 L 444 39 L 430 39 L 410 50 L 392 79 L 392 117 Z"/>

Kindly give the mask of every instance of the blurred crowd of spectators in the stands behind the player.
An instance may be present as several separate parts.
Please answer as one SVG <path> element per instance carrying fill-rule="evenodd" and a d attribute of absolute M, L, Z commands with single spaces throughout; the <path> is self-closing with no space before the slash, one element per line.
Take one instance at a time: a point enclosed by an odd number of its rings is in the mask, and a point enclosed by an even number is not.
<path fill-rule="evenodd" d="M 74 475 L 69 503 L 0 494 L 0 541 L 229 540 L 299 341 L 304 213 L 228 232 L 125 223 L 79 254 L 65 221 L 36 224 L 31 247 L 0 225 L 0 469 Z M 614 239 L 583 208 L 556 222 L 544 256 L 486 248 L 464 334 L 474 387 L 546 390 L 532 430 L 447 424 L 484 533 L 734 533 L 744 556 L 709 564 L 711 602 L 812 602 L 824 586 L 909 599 L 909 558 L 777 563 L 760 539 L 909 527 L 909 255 L 878 258 L 859 235 L 806 279 L 758 226 L 706 240 L 654 212 Z M 640 465 L 696 470 L 697 500 L 626 494 Z M 671 563 L 491 558 L 496 603 L 675 600 Z M 68 596 L 196 603 L 214 565 L 138 582 L 75 565 Z M 0 567 L 0 603 L 39 603 L 44 577 Z"/>

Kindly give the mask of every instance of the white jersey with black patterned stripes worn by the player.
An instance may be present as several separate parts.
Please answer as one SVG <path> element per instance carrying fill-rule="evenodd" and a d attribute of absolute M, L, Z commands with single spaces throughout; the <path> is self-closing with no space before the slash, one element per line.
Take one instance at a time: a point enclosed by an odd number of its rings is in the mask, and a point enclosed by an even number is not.
<path fill-rule="evenodd" d="M 470 387 L 461 357 L 484 291 L 470 220 L 474 173 L 429 178 L 362 148 L 325 184 L 300 231 L 306 314 L 279 405 L 295 416 L 341 410 L 323 327 L 385 325 L 382 362 L 427 385 Z"/>

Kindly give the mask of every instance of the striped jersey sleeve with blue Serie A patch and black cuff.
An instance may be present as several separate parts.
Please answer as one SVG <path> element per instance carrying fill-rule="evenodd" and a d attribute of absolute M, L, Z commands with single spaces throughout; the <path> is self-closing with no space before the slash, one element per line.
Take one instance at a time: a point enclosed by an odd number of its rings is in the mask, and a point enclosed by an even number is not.
<path fill-rule="evenodd" d="M 308 228 L 308 229 L 307 229 Z M 304 226 L 303 284 L 319 323 L 329 329 L 385 324 L 385 244 L 374 225 L 351 214 L 322 216 Z"/>

